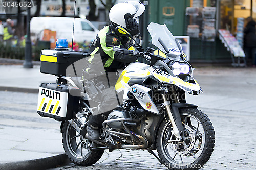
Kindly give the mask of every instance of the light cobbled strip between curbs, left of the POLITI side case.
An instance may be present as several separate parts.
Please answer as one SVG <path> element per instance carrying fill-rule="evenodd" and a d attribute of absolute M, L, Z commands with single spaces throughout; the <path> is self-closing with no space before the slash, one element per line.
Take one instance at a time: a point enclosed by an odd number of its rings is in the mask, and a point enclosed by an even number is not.
<path fill-rule="evenodd" d="M 0 91 L 0 125 L 59 129 L 59 122 L 37 114 L 37 98 L 38 94 Z"/>

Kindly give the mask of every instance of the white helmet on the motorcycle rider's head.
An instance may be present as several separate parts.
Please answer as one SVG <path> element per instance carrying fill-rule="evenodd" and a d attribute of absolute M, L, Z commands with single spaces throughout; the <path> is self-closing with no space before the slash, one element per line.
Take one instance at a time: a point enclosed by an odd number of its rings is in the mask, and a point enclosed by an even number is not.
<path fill-rule="evenodd" d="M 138 1 L 126 1 L 125 3 L 118 3 L 110 9 L 110 21 L 126 28 L 125 14 L 130 14 L 132 18 L 140 16 L 145 10 L 144 4 Z"/>

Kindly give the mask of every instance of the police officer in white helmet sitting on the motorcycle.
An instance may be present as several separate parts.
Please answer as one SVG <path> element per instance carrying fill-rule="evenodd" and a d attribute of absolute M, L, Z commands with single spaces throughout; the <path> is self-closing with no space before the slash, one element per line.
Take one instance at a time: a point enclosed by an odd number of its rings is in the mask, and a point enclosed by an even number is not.
<path fill-rule="evenodd" d="M 117 94 L 114 91 L 118 74 L 117 69 L 122 68 L 125 63 L 135 62 L 137 58 L 132 55 L 126 55 L 113 51 L 113 47 L 128 48 L 130 38 L 126 36 L 118 36 L 115 32 L 117 26 L 125 28 L 132 36 L 139 37 L 139 27 L 134 18 L 142 15 L 145 10 L 145 6 L 140 2 L 127 1 L 125 3 L 118 3 L 114 5 L 109 13 L 109 19 L 111 24 L 104 27 L 96 39 L 92 42 L 89 49 L 89 66 L 86 71 L 89 74 L 98 73 L 98 76 L 94 79 L 96 86 L 100 86 L 102 91 L 98 96 L 100 104 L 94 111 L 93 115 L 89 117 L 89 125 L 87 126 L 87 138 L 99 139 L 99 128 L 102 127 L 102 123 L 111 111 L 120 105 L 117 100 Z M 104 70 L 99 68 L 102 65 Z M 99 76 L 99 72 L 106 72 L 106 76 Z"/>

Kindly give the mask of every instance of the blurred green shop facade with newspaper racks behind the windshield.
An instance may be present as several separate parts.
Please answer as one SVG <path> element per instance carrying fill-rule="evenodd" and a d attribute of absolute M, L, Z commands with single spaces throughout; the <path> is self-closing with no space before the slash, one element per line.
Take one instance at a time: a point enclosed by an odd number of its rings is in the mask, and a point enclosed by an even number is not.
<path fill-rule="evenodd" d="M 190 36 L 190 59 L 220 62 L 231 60 L 218 30 L 241 32 L 239 18 L 256 19 L 256 0 L 148 1 L 150 22 L 166 24 L 174 36 Z M 242 26 L 243 27 L 243 26 Z M 241 35 L 241 34 L 240 34 Z M 242 44 L 241 44 L 242 45 Z"/>

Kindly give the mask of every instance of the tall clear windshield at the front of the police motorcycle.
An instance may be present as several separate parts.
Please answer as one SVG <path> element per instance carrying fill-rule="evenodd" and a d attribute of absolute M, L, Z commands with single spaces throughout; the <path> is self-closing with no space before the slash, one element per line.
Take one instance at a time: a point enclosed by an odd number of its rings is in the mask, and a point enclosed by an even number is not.
<path fill-rule="evenodd" d="M 152 37 L 152 44 L 159 48 L 161 51 L 166 52 L 166 50 L 168 50 L 168 53 L 177 55 L 177 57 L 182 53 L 179 50 L 179 46 L 177 44 L 178 42 L 176 42 L 175 37 L 168 30 L 165 24 L 159 25 L 157 23 L 151 22 L 150 25 L 147 26 L 147 30 L 150 32 Z M 161 44 L 160 41 L 163 42 L 165 47 Z M 166 47 L 167 49 L 165 50 Z"/>

